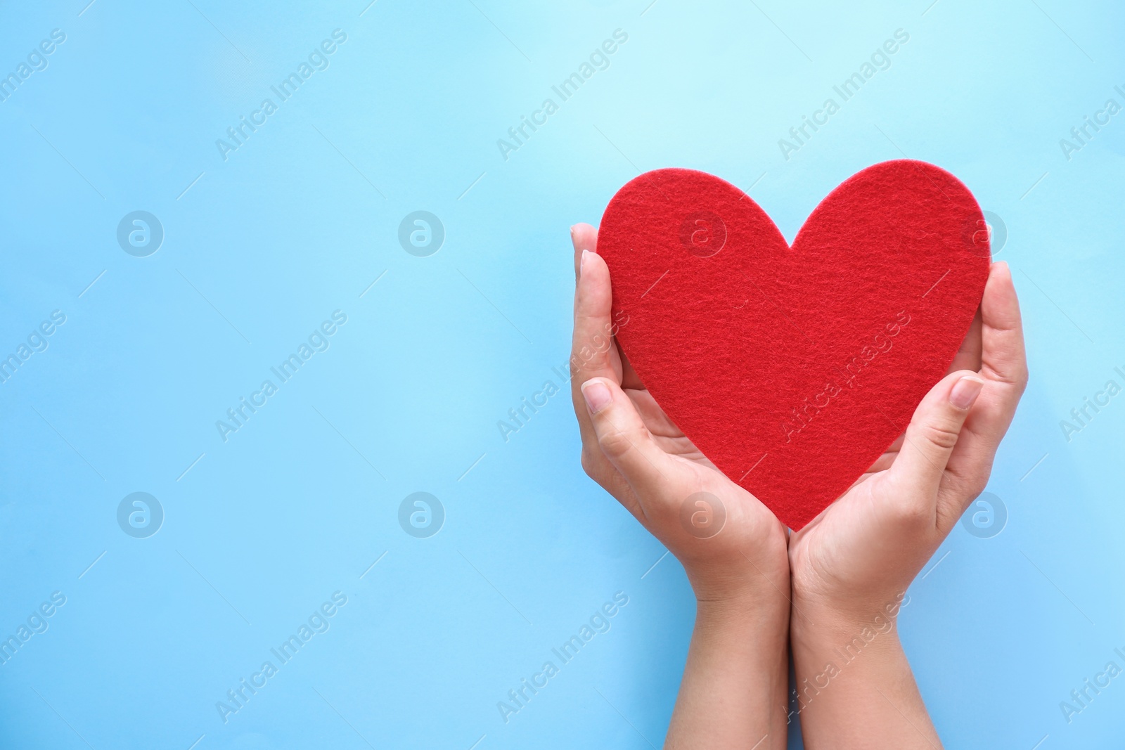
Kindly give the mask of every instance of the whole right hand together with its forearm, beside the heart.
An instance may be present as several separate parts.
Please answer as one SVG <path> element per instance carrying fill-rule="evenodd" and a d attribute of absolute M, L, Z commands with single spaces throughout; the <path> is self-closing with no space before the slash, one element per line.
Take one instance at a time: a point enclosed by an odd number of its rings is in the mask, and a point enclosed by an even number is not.
<path fill-rule="evenodd" d="M 940 747 L 894 620 L 910 581 L 984 489 L 1026 385 L 1011 272 L 993 263 L 950 374 L 871 469 L 790 536 L 790 643 L 810 750 Z"/>

